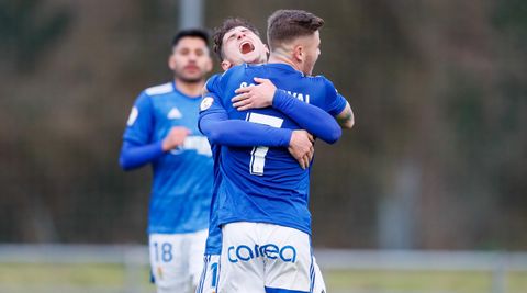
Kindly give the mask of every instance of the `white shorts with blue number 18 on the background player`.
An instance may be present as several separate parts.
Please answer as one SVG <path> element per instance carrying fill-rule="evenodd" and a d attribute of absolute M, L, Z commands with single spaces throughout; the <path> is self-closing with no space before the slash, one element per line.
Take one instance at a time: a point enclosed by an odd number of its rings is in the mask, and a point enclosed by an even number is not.
<path fill-rule="evenodd" d="M 208 229 L 184 234 L 150 234 L 149 255 L 158 293 L 190 292 L 198 285 Z"/>

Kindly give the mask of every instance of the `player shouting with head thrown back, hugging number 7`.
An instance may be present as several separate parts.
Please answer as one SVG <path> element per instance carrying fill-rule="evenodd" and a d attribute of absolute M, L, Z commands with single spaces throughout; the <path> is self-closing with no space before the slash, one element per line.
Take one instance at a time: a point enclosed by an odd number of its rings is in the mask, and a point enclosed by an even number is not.
<path fill-rule="evenodd" d="M 248 64 L 260 64 L 267 60 L 268 48 L 261 42 L 259 37 L 258 30 L 247 22 L 246 20 L 229 18 L 226 19 L 220 27 L 215 29 L 213 35 L 214 40 L 214 52 L 217 54 L 222 68 L 227 70 L 234 65 L 239 65 L 243 63 Z M 250 49 L 243 48 L 244 46 L 249 46 Z M 213 76 L 208 81 L 208 87 L 213 88 L 214 82 L 220 75 Z M 272 84 L 272 83 L 270 83 Z M 264 90 L 262 93 L 266 95 L 272 95 L 269 90 Z M 211 93 L 205 94 L 203 100 L 203 108 L 206 108 L 208 99 L 212 95 Z M 293 97 L 291 97 L 292 99 Z M 267 97 L 261 97 L 261 99 L 268 99 Z M 258 101 L 258 100 L 257 100 Z M 292 100 L 294 102 L 294 100 Z M 307 114 L 312 115 L 315 120 L 318 120 L 322 125 L 324 133 L 321 133 L 321 136 L 325 139 L 332 140 L 332 134 L 338 133 L 338 125 L 325 111 L 314 108 L 303 102 L 295 103 L 296 108 L 293 106 L 293 110 L 298 112 L 305 111 Z M 221 146 L 267 146 L 267 147 L 287 147 L 290 154 L 298 159 L 299 164 L 306 168 L 309 161 L 313 156 L 313 137 L 305 131 L 293 131 L 285 128 L 274 128 L 271 126 L 256 124 L 251 122 L 240 121 L 240 120 L 228 120 L 225 110 L 216 109 L 214 114 L 211 114 L 212 110 L 205 111 L 206 119 L 203 121 L 203 128 L 205 132 L 210 133 L 211 147 L 213 149 L 213 155 L 215 158 L 215 187 L 220 185 L 221 182 L 221 172 L 218 171 L 218 158 L 220 158 L 220 148 Z M 309 126 L 307 126 L 309 128 Z M 212 132 L 211 132 L 212 131 Z M 289 142 L 289 145 L 288 145 Z M 200 281 L 200 286 L 198 288 L 199 293 L 208 292 L 215 293 L 217 286 L 218 278 L 218 260 L 222 249 L 221 244 L 221 229 L 214 223 L 217 222 L 217 216 L 215 213 L 215 193 L 213 193 L 213 201 L 211 206 L 211 225 L 209 230 L 209 238 L 205 249 L 204 258 L 204 271 L 202 274 L 202 280 Z M 315 285 L 314 292 L 325 292 L 325 284 L 319 273 L 319 269 L 316 262 L 313 263 L 315 269 Z"/>

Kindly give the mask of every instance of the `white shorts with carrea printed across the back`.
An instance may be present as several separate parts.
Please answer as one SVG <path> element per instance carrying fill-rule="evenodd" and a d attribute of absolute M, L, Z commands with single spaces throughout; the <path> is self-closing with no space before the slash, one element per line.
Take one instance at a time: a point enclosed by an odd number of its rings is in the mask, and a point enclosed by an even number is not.
<path fill-rule="evenodd" d="M 313 292 L 315 267 L 306 233 L 238 222 L 225 225 L 222 237 L 218 293 Z"/>

